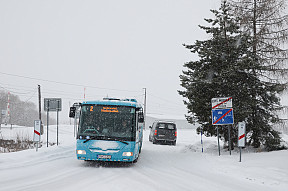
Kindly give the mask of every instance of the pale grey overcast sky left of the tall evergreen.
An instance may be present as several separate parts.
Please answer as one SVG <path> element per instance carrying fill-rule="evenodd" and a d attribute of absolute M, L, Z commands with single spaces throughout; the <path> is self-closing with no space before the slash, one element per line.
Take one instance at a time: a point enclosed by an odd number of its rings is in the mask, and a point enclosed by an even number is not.
<path fill-rule="evenodd" d="M 195 56 L 182 44 L 206 37 L 198 25 L 220 2 L 0 0 L 0 88 L 36 103 L 40 84 L 66 120 L 84 87 L 86 100 L 140 102 L 147 88 L 148 114 L 184 116 L 179 75 Z"/>

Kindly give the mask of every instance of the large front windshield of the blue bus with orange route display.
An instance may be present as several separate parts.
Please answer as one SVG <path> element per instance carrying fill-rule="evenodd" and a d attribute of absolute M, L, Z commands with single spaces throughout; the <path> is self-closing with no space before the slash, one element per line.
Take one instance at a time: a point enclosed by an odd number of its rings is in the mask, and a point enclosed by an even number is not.
<path fill-rule="evenodd" d="M 78 138 L 134 141 L 135 108 L 127 106 L 83 105 Z"/>

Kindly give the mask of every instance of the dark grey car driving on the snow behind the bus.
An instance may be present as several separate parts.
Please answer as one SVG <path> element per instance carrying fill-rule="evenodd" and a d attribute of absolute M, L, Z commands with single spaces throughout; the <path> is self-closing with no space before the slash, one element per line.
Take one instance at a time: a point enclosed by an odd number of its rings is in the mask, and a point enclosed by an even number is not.
<path fill-rule="evenodd" d="M 174 122 L 155 121 L 150 128 L 149 141 L 176 145 L 177 128 Z"/>

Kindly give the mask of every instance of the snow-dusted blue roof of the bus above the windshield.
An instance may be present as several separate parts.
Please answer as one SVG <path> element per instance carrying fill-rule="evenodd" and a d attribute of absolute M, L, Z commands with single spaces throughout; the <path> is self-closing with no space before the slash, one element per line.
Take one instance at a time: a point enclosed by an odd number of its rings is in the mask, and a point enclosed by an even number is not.
<path fill-rule="evenodd" d="M 105 100 L 98 100 L 98 101 L 84 101 L 82 105 L 113 105 L 113 106 L 130 106 L 135 108 L 141 108 L 141 104 L 135 100 L 119 100 L 119 99 L 105 99 Z"/>

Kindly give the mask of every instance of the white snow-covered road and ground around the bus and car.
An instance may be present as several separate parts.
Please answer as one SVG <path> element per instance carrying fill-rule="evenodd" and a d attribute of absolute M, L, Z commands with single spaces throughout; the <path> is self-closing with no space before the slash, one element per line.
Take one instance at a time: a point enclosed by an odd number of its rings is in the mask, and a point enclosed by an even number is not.
<path fill-rule="evenodd" d="M 46 127 L 45 127 L 46 129 Z M 13 137 L 21 132 L 33 137 L 33 128 L 2 128 Z M 146 130 L 141 156 L 136 164 L 98 164 L 78 161 L 73 126 L 59 125 L 59 146 L 46 144 L 15 153 L 0 153 L 1 191 L 58 190 L 261 190 L 288 189 L 288 151 L 242 153 L 218 156 L 216 138 L 200 136 L 195 129 L 179 129 L 176 146 L 153 145 Z M 1 136 L 1 135 L 0 135 Z M 284 137 L 286 141 L 287 136 Z M 46 141 L 46 134 L 42 136 Z M 49 141 L 56 142 L 55 126 Z"/>

